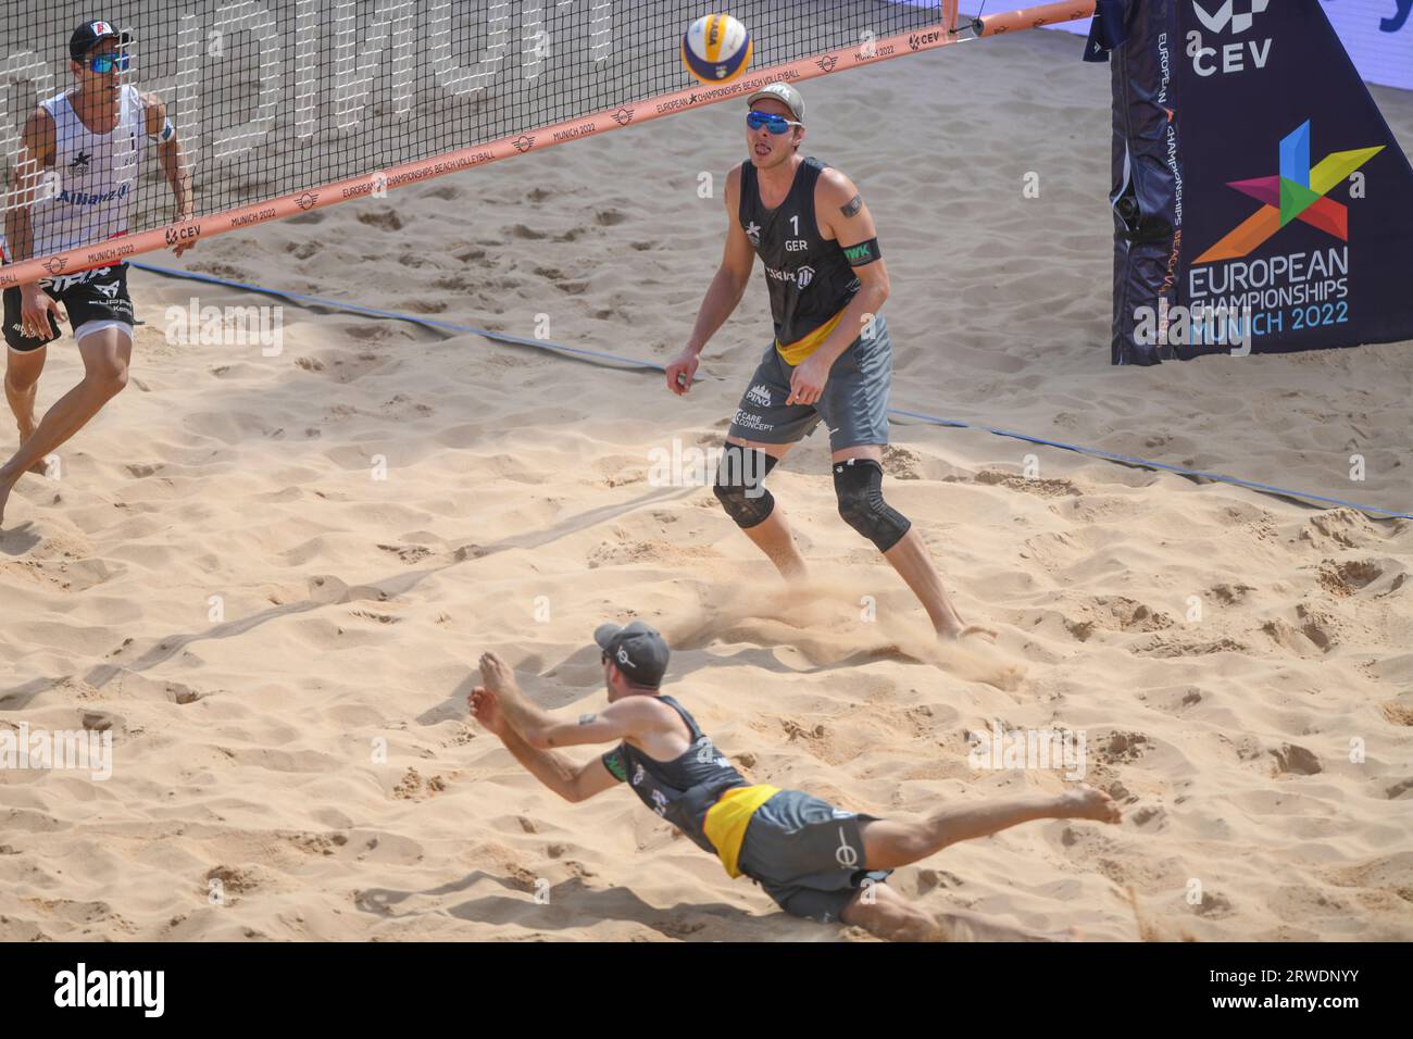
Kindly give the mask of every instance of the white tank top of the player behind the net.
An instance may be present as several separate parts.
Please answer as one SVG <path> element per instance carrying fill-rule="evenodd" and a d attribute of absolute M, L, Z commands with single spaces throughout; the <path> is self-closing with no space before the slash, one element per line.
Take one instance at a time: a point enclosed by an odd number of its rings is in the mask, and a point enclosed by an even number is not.
<path fill-rule="evenodd" d="M 93 133 L 69 103 L 68 93 L 41 106 L 54 119 L 54 187 L 31 209 L 34 256 L 48 256 L 127 233 L 141 168 L 143 102 L 136 86 L 119 88 L 117 124 Z M 52 180 L 57 175 L 57 182 Z"/>

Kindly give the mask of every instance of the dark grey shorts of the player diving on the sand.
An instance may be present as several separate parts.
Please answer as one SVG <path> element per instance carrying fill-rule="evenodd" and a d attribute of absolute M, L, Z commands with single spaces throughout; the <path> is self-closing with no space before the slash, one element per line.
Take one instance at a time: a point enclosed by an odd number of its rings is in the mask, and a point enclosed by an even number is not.
<path fill-rule="evenodd" d="M 836 923 L 865 881 L 893 872 L 863 868 L 859 827 L 870 818 L 781 790 L 750 817 L 736 862 L 787 913 Z"/>

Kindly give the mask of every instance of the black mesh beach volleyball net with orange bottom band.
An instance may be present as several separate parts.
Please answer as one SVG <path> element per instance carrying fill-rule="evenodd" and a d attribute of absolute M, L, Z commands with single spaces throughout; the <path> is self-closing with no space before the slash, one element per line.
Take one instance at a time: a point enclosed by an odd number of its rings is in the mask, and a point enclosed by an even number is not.
<path fill-rule="evenodd" d="M 746 75 L 705 85 L 684 68 L 680 40 L 714 10 L 746 24 L 755 55 Z M 167 107 L 191 175 L 189 219 L 143 131 L 85 147 L 93 139 L 61 102 L 62 154 L 41 168 L 21 150 L 35 109 L 75 88 L 69 37 L 93 18 L 130 35 L 117 81 Z M 955 23 L 957 0 L 0 0 L 14 239 L 0 286 L 931 49 L 954 41 Z M 23 233 L 20 212 L 42 218 L 42 235 Z"/>

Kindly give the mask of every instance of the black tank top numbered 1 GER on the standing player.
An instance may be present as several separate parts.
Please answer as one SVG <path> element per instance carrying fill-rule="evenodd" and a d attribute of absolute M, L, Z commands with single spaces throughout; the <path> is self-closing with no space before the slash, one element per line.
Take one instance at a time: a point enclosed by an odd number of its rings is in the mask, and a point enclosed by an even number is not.
<path fill-rule="evenodd" d="M 804 160 L 786 201 L 766 209 L 755 164 L 746 160 L 740 167 L 740 226 L 766 267 L 776 348 L 793 365 L 824 341 L 820 335 L 818 342 L 808 342 L 849 305 L 861 286 L 839 243 L 820 235 L 814 189 L 825 170 L 818 158 Z"/>

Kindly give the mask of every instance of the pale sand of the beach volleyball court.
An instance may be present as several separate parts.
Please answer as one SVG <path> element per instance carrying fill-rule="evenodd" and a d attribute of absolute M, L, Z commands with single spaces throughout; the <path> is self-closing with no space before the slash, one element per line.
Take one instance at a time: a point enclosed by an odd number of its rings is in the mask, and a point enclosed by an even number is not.
<path fill-rule="evenodd" d="M 1109 368 L 1108 76 L 1077 47 L 1024 34 L 808 88 L 808 150 L 882 229 L 894 406 L 1413 505 L 1409 344 Z M 1407 147 L 1413 98 L 1378 98 Z M 663 120 L 184 263 L 524 336 L 545 314 L 557 342 L 663 362 L 719 257 L 698 172 L 719 191 L 738 120 Z M 838 519 L 820 437 L 771 482 L 817 581 L 793 601 L 706 489 L 647 482 L 651 451 L 722 435 L 769 338 L 759 280 L 685 401 L 654 375 L 294 307 L 277 358 L 171 344 L 164 311 L 198 288 L 133 284 L 130 387 L 61 479 L 21 482 L 0 537 L 0 725 L 107 728 L 116 758 L 102 783 L 0 772 L 0 937 L 858 937 L 776 912 L 626 790 L 560 802 L 468 722 L 483 649 L 548 707 L 602 704 L 589 633 L 633 616 L 750 777 L 861 811 L 1057 790 L 972 769 L 965 732 L 1084 731 L 1123 824 L 1029 824 L 899 871 L 924 906 L 1095 939 L 1413 937 L 1413 524 L 900 424 L 889 498 L 1002 630 L 995 660 L 941 654 Z M 78 370 L 69 342 L 51 353 L 42 403 Z"/>

